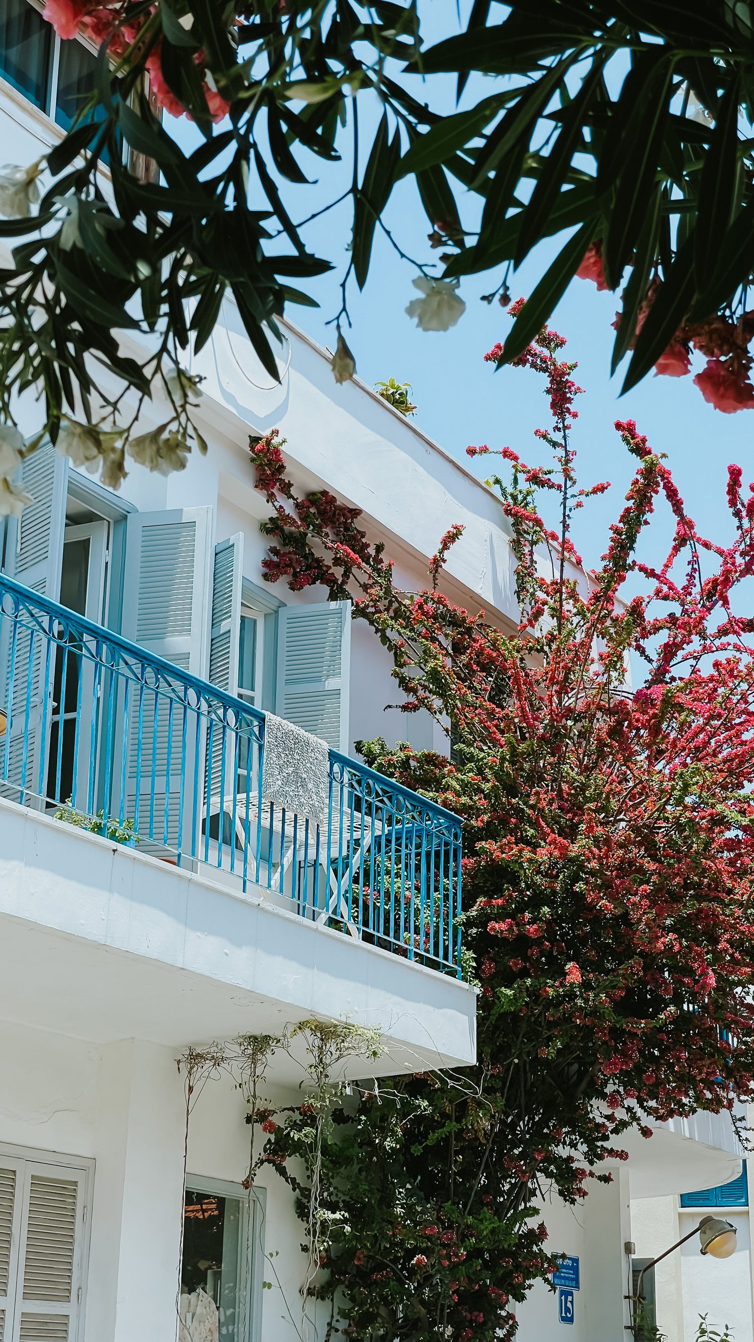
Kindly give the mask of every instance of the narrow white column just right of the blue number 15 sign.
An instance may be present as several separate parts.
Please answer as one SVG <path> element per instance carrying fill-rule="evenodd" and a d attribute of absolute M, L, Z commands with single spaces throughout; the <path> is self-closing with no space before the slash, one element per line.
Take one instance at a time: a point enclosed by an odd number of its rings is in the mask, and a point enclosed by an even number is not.
<path fill-rule="evenodd" d="M 631 1338 L 628 1259 L 631 1200 L 628 1170 L 612 1170 L 612 1184 L 589 1181 L 584 1204 L 581 1295 L 585 1342 L 625 1342 Z"/>

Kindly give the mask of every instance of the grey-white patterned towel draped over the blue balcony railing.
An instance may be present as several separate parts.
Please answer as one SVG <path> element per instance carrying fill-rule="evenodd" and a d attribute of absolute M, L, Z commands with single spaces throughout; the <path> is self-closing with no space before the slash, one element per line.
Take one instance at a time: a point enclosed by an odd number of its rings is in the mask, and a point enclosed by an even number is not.
<path fill-rule="evenodd" d="M 295 723 L 264 714 L 262 796 L 303 823 L 327 820 L 330 747 Z"/>

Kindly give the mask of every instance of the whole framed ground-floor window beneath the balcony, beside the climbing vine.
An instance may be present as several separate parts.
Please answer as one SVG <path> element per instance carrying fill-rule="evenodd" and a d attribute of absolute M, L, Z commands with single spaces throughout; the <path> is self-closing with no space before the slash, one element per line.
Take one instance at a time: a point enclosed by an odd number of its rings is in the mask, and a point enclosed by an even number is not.
<path fill-rule="evenodd" d="M 189 1177 L 178 1342 L 262 1342 L 264 1189 Z"/>

